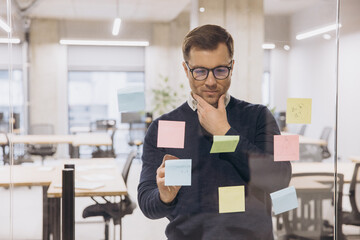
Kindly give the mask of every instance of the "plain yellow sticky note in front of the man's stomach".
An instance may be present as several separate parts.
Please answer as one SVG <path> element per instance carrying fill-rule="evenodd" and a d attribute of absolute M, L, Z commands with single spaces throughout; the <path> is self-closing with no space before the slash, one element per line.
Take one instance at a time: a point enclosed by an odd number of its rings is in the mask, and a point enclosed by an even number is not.
<path fill-rule="evenodd" d="M 219 213 L 245 212 L 244 186 L 219 187 Z"/>

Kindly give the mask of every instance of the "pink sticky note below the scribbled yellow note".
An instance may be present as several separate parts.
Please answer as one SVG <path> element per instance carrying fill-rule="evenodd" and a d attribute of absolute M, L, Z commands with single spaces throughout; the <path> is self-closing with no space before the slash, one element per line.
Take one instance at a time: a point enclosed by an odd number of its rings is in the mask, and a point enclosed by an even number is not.
<path fill-rule="evenodd" d="M 299 135 L 274 136 L 274 161 L 299 160 Z"/>

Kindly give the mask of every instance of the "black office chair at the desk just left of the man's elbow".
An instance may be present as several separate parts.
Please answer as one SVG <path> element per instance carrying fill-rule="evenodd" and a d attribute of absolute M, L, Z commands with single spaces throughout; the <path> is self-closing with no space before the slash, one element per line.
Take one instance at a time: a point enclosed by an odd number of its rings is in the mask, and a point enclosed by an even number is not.
<path fill-rule="evenodd" d="M 124 179 L 125 185 L 127 185 L 127 179 L 129 176 L 130 167 L 132 161 L 136 156 L 135 151 L 131 151 L 128 155 L 125 165 L 122 170 L 122 177 Z M 132 214 L 136 208 L 136 203 L 131 200 L 130 195 L 123 196 L 121 201 L 118 203 L 112 203 L 103 197 L 105 203 L 99 203 L 94 198 L 92 198 L 96 203 L 94 205 L 88 206 L 83 211 L 83 218 L 87 217 L 98 217 L 101 216 L 105 221 L 105 240 L 109 239 L 109 222 L 113 219 L 114 225 L 120 225 L 120 240 L 122 239 L 122 223 L 121 220 L 124 216 Z"/>

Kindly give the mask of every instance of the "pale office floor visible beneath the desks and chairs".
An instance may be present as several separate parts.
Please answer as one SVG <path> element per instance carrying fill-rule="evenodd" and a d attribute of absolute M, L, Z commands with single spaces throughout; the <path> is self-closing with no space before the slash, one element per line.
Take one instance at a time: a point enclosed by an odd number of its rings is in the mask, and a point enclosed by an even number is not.
<path fill-rule="evenodd" d="M 117 159 L 119 169 L 125 161 L 126 155 Z M 46 165 L 56 164 L 56 160 L 47 159 Z M 40 160 L 35 164 L 40 165 Z M 132 199 L 136 201 L 137 185 L 141 171 L 141 162 L 135 159 L 129 173 L 128 190 Z M 345 190 L 345 189 L 344 189 Z M 345 190 L 346 192 L 346 190 Z M 10 201 L 10 199 L 13 201 Z M 12 205 L 11 205 L 12 203 Z M 75 234 L 77 240 L 101 240 L 104 239 L 104 222 L 101 217 L 88 219 L 82 218 L 83 209 L 93 204 L 90 198 L 76 198 L 75 200 Z M 345 205 L 348 205 L 344 201 Z M 344 206 L 345 209 L 349 206 Z M 348 210 L 348 209 L 346 209 Z M 10 214 L 11 211 L 13 214 Z M 10 216 L 13 219 L 10 219 Z M 17 187 L 13 191 L 0 188 L 0 240 L 10 240 L 10 222 L 13 222 L 13 239 L 16 240 L 39 240 L 42 237 L 42 188 L 41 187 Z M 123 240 L 162 240 L 165 238 L 165 227 L 167 219 L 150 220 L 144 217 L 139 208 L 136 208 L 132 215 L 123 219 Z M 359 228 L 344 226 L 346 233 L 355 234 L 348 238 L 360 239 Z M 280 233 L 281 235 L 281 233 Z M 115 236 L 115 238 L 114 238 Z M 110 239 L 119 239 L 119 226 L 115 232 L 110 224 Z"/>

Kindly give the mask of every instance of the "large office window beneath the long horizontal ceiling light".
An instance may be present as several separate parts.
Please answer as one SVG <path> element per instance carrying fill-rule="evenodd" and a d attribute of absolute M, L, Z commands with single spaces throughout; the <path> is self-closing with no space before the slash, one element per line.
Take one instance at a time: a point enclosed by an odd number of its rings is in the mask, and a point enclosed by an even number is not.
<path fill-rule="evenodd" d="M 144 72 L 69 72 L 69 127 L 87 127 L 100 119 L 116 119 L 117 90 L 144 89 Z"/>

